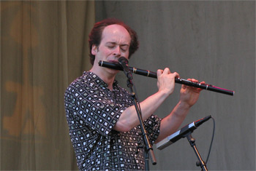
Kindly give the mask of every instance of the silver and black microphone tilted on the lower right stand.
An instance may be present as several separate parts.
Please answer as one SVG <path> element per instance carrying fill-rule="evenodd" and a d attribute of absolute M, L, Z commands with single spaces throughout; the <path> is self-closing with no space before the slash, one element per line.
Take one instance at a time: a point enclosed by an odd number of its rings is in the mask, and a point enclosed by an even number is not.
<path fill-rule="evenodd" d="M 197 129 L 197 127 L 203 124 L 203 122 L 208 121 L 208 119 L 210 118 L 211 115 L 206 116 L 203 119 L 199 119 L 196 122 L 192 122 L 191 124 L 187 124 L 186 126 L 182 127 L 181 130 L 178 130 L 177 132 L 173 133 L 172 135 L 157 143 L 157 148 L 159 150 L 162 150 L 163 148 L 175 143 L 177 140 L 186 137 L 189 132 L 193 132 L 195 129 Z"/>

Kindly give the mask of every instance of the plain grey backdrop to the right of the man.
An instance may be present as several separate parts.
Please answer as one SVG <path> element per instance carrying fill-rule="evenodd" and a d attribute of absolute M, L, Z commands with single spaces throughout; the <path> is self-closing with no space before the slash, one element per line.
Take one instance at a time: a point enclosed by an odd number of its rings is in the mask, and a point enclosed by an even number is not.
<path fill-rule="evenodd" d="M 140 49 L 129 65 L 157 71 L 169 67 L 235 90 L 234 96 L 203 91 L 183 125 L 211 115 L 216 121 L 209 170 L 255 170 L 255 1 L 96 1 L 96 19 L 117 17 L 137 31 Z M 120 73 L 119 80 L 126 79 Z M 140 100 L 157 91 L 157 80 L 134 76 Z M 156 112 L 176 105 L 180 85 Z M 206 160 L 213 122 L 192 133 Z M 200 170 L 186 138 L 159 151 L 151 170 Z"/>

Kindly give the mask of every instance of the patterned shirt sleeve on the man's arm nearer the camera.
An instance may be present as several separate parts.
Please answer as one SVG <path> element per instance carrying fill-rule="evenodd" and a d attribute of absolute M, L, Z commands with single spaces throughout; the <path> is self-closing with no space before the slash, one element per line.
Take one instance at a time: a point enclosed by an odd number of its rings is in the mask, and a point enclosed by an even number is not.
<path fill-rule="evenodd" d="M 85 87 L 77 81 L 65 93 L 69 117 L 81 126 L 86 125 L 99 134 L 108 136 L 126 107 L 109 100 L 108 93 Z"/>

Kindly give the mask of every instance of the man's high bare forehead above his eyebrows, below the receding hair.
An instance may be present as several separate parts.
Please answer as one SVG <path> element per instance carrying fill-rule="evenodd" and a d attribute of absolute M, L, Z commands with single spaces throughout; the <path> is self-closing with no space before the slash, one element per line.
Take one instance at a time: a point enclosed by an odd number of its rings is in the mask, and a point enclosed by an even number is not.
<path fill-rule="evenodd" d="M 122 25 L 108 25 L 102 31 L 102 41 L 111 41 L 122 44 L 129 44 L 131 36 Z"/>

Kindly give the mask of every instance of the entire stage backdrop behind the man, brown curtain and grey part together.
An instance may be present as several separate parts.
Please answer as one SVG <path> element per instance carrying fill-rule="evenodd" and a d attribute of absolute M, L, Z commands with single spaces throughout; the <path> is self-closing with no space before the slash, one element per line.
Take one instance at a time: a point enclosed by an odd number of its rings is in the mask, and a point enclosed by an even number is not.
<path fill-rule="evenodd" d="M 211 115 L 216 122 L 208 170 L 255 170 L 255 1 L 0 1 L 1 170 L 78 170 L 64 111 L 64 91 L 89 63 L 88 35 L 107 17 L 138 33 L 129 65 L 170 68 L 234 90 L 204 90 L 181 126 Z M 124 73 L 117 76 L 127 87 Z M 140 101 L 157 79 L 134 75 Z M 156 114 L 165 117 L 181 85 Z M 192 133 L 202 158 L 210 119 Z M 186 138 L 161 151 L 150 170 L 200 170 Z"/>

